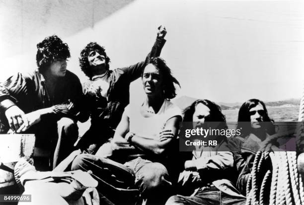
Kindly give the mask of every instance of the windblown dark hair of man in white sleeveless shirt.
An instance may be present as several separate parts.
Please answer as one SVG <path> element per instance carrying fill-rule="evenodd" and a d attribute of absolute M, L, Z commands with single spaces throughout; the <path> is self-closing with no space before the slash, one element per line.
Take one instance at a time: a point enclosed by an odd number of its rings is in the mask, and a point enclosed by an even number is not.
<path fill-rule="evenodd" d="M 178 85 L 179 87 L 180 84 L 178 80 L 175 77 L 173 77 L 171 69 L 166 65 L 165 60 L 163 60 L 160 57 L 155 57 L 150 60 L 149 64 L 152 64 L 155 68 L 158 68 L 162 74 L 164 97 L 166 99 L 174 98 L 176 96 L 176 88 L 174 84 Z M 144 70 L 142 72 L 142 78 L 143 78 L 143 74 L 144 74 Z"/>

